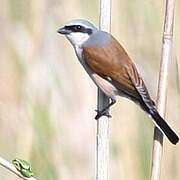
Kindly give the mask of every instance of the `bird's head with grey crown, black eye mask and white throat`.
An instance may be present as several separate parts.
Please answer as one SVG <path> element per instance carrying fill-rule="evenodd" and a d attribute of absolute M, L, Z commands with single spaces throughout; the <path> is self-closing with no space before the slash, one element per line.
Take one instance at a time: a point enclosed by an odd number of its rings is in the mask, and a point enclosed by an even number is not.
<path fill-rule="evenodd" d="M 57 32 L 65 35 L 73 46 L 81 46 L 97 31 L 98 29 L 89 21 L 75 19 L 59 28 Z"/>

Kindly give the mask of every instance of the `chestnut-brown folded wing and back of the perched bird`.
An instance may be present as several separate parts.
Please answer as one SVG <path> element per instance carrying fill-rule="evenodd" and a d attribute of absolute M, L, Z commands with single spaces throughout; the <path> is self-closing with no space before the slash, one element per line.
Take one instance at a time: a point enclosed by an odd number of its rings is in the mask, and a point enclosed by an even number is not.
<path fill-rule="evenodd" d="M 125 96 L 139 102 L 153 105 L 146 86 L 126 51 L 112 36 L 106 46 L 88 46 L 83 55 L 88 66 L 102 77 L 110 77 L 113 84 Z"/>

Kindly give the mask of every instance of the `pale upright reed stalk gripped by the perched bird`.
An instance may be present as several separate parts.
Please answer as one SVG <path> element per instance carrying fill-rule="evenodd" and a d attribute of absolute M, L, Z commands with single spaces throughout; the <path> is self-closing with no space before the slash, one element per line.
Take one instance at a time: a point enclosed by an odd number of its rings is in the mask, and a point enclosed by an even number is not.
<path fill-rule="evenodd" d="M 110 31 L 111 0 L 100 1 L 99 27 L 103 31 Z M 98 89 L 98 110 L 104 109 L 109 99 Z M 102 116 L 97 120 L 97 157 L 96 180 L 108 180 L 109 170 L 109 118 Z"/>

